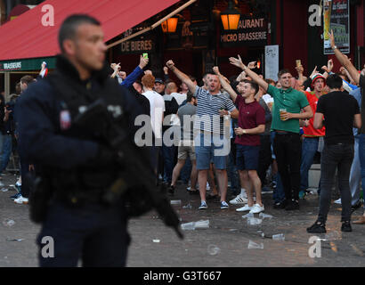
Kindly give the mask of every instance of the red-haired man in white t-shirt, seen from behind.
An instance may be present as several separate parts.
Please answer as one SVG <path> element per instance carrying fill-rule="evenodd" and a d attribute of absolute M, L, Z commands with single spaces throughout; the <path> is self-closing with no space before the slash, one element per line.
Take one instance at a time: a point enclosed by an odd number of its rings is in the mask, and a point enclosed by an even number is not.
<path fill-rule="evenodd" d="M 156 139 L 162 140 L 162 123 L 164 120 L 165 111 L 164 98 L 156 91 L 153 91 L 155 77 L 153 77 L 151 74 L 146 74 L 142 77 L 142 85 L 142 95 L 146 96 L 146 98 L 150 101 L 150 124 L 152 126 L 153 134 L 155 135 Z M 154 142 L 151 148 L 151 163 L 155 168 L 156 174 L 158 168 L 158 152 L 159 147 L 157 147 L 156 143 Z"/>

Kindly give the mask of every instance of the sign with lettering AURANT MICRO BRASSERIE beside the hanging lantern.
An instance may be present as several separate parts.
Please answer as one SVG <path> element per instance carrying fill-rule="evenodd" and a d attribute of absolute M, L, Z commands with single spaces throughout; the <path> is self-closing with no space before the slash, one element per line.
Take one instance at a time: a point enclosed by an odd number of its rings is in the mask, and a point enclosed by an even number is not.
<path fill-rule="evenodd" d="M 266 45 L 267 21 L 264 17 L 248 18 L 241 16 L 237 30 L 222 30 L 221 46 Z"/>

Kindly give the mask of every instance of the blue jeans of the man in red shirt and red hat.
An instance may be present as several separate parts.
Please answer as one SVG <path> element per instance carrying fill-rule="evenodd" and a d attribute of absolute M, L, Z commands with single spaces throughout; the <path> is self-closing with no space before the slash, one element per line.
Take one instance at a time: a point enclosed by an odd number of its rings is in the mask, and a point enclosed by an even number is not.
<path fill-rule="evenodd" d="M 308 189 L 308 172 L 318 150 L 319 137 L 304 137 L 302 142 L 302 162 L 300 165 L 300 190 Z"/>

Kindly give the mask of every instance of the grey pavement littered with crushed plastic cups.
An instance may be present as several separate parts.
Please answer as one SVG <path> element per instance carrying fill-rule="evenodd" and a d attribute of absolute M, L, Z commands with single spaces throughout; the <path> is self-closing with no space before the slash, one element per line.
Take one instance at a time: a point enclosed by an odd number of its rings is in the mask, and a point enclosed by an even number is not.
<path fill-rule="evenodd" d="M 14 184 L 15 176 L 4 176 L 3 182 Z M 10 187 L 7 187 L 9 188 Z M 272 208 L 272 194 L 264 195 L 265 214 L 258 226 L 248 226 L 235 206 L 227 210 L 219 208 L 219 201 L 208 201 L 207 210 L 198 210 L 199 195 L 189 195 L 186 185 L 179 185 L 171 199 L 181 200 L 174 208 L 182 223 L 209 220 L 208 229 L 184 231 L 184 240 L 179 240 L 171 228 L 167 228 L 155 212 L 129 222 L 132 243 L 127 266 L 364 266 L 365 225 L 353 225 L 353 232 L 340 231 L 341 206 L 332 204 L 328 216 L 328 233 L 336 240 L 321 241 L 321 257 L 311 258 L 308 254 L 312 234 L 305 231 L 316 219 L 318 196 L 307 196 L 300 201 L 299 211 L 286 212 Z M 28 206 L 16 205 L 9 197 L 15 191 L 0 191 L 0 267 L 37 266 L 35 240 L 40 226 L 28 218 Z M 188 204 L 191 208 L 183 208 Z M 353 216 L 361 216 L 362 209 Z M 258 215 L 255 215 L 258 217 Z M 4 220 L 12 219 L 15 224 L 5 226 Z M 336 232 L 335 232 L 336 231 Z M 262 237 L 262 233 L 267 238 Z M 273 234 L 283 233 L 285 240 L 272 240 Z M 320 234 L 324 239 L 325 234 Z M 20 241 L 13 241 L 19 240 Z M 249 240 L 263 249 L 248 249 Z"/>

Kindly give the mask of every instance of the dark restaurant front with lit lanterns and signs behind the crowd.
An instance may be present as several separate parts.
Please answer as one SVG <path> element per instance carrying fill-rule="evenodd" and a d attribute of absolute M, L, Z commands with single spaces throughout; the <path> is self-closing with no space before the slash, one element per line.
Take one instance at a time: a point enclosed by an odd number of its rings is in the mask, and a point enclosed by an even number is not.
<path fill-rule="evenodd" d="M 178 24 L 174 33 L 164 33 L 162 28 L 155 28 L 142 37 L 115 46 L 110 51 L 110 61 L 121 62 L 129 73 L 138 65 L 140 54 L 149 53 L 148 69 L 157 77 L 163 76 L 162 68 L 170 59 L 194 77 L 200 78 L 215 64 L 219 65 L 226 77 L 231 77 L 237 75 L 239 70 L 232 68 L 228 59 L 237 54 L 246 62 L 260 61 L 260 69 L 255 71 L 264 75 L 267 73 L 265 68 L 275 70 L 271 75 L 282 68 L 296 75 L 296 60 L 302 61 L 307 74 L 315 66 L 320 69 L 326 65 L 328 59 L 334 59 L 335 71 L 339 69 L 334 55 L 325 54 L 323 7 L 320 1 L 240 0 L 232 3 L 236 3 L 235 7 L 240 12 L 236 30 L 223 29 L 219 15 L 227 9 L 227 1 L 199 0 L 177 15 Z M 364 1 L 332 0 L 332 4 L 333 14 L 339 12 L 343 18 L 347 17 L 348 24 L 344 28 L 348 36 L 347 56 L 360 68 L 365 63 Z M 174 7 L 170 10 L 173 11 Z M 143 25 L 163 15 L 158 14 Z M 336 28 L 335 24 L 332 23 L 332 27 Z M 128 33 L 133 34 L 141 28 L 134 27 Z"/>

